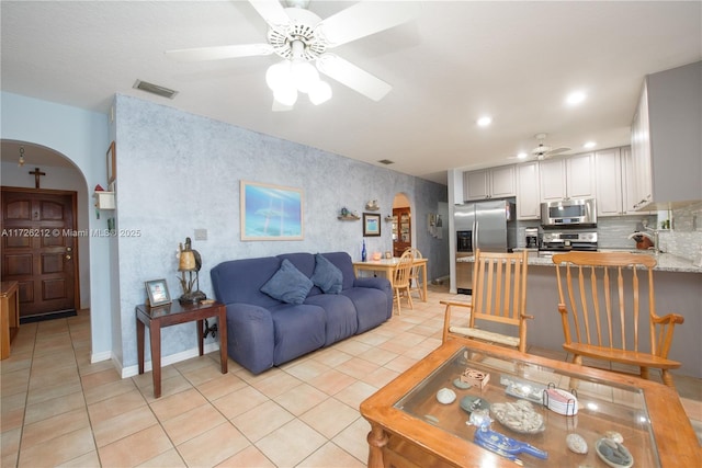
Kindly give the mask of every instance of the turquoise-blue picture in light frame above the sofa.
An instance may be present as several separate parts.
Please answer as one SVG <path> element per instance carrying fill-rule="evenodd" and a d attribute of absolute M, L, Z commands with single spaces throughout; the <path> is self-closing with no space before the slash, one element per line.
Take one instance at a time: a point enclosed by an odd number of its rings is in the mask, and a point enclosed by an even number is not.
<path fill-rule="evenodd" d="M 303 240 L 302 189 L 241 181 L 241 240 Z"/>

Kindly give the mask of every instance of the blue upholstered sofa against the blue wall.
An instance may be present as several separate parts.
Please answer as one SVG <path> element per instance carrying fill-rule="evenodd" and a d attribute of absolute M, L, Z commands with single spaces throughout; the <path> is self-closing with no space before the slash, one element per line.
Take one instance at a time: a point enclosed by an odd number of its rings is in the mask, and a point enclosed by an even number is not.
<path fill-rule="evenodd" d="M 318 264 L 333 270 L 336 285 L 328 287 L 324 279 L 318 281 L 322 270 Z M 303 284 L 315 279 L 319 285 L 313 285 L 307 294 L 306 287 L 302 293 L 292 290 L 296 296 L 292 300 L 286 294 L 274 298 L 270 294 L 285 288 L 274 283 L 283 270 L 293 270 Z M 389 282 L 356 278 L 346 252 L 226 261 L 212 269 L 211 276 L 215 297 L 227 307 L 228 354 L 253 374 L 363 333 L 393 316 Z"/>

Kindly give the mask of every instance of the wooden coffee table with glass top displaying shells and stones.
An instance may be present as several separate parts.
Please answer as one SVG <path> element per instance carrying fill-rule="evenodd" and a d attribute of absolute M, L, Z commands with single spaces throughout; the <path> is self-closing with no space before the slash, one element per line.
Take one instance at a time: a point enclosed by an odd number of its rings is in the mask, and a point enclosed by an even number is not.
<path fill-rule="evenodd" d="M 700 459 L 675 390 L 473 341 L 442 345 L 365 400 L 361 413 L 372 426 L 371 467 L 619 468 Z"/>

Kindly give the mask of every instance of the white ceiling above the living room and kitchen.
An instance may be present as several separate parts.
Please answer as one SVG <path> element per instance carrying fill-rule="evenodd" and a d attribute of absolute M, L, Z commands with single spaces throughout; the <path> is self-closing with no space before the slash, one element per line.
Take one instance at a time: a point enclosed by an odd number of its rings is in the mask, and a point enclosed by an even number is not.
<path fill-rule="evenodd" d="M 315 1 L 327 18 L 355 2 Z M 419 18 L 333 52 L 393 84 L 374 102 L 331 81 L 319 106 L 272 112 L 276 56 L 179 62 L 165 50 L 265 42 L 247 1 L 1 2 L 3 91 L 107 113 L 138 96 L 440 183 L 546 144 L 627 145 L 644 76 L 702 59 L 700 1 L 424 1 Z M 179 91 L 133 89 L 137 79 Z M 565 95 L 581 89 L 578 107 Z M 494 124 L 475 121 L 490 114 Z M 7 149 L 3 147 L 3 149 Z M 2 158 L 16 161 L 18 153 Z M 33 163 L 33 162 L 30 162 Z"/>

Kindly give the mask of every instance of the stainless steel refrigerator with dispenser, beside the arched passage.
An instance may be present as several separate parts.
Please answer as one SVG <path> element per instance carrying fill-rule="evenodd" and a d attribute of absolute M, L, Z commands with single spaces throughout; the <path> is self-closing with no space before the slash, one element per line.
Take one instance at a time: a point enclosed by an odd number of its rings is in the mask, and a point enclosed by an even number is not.
<path fill-rule="evenodd" d="M 473 263 L 460 259 L 475 250 L 511 252 L 517 247 L 514 204 L 500 199 L 457 205 L 454 209 L 456 236 L 456 288 L 471 294 Z"/>

